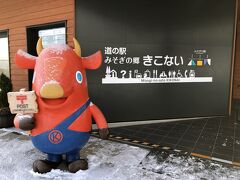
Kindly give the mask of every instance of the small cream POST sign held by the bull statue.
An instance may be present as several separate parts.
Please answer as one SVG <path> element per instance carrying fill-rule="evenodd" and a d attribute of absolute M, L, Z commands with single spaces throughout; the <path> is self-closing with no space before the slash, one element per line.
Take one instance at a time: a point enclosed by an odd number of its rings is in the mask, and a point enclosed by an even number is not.
<path fill-rule="evenodd" d="M 38 112 L 35 91 L 20 90 L 19 92 L 9 92 L 8 102 L 12 114 Z"/>

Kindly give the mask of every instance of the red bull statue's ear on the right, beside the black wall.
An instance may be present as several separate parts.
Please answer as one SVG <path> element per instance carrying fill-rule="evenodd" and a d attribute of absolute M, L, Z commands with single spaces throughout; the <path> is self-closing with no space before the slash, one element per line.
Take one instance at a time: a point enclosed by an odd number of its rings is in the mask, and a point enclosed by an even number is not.
<path fill-rule="evenodd" d="M 97 69 L 102 64 L 102 53 L 98 51 L 91 56 L 82 57 L 81 59 L 85 69 Z"/>

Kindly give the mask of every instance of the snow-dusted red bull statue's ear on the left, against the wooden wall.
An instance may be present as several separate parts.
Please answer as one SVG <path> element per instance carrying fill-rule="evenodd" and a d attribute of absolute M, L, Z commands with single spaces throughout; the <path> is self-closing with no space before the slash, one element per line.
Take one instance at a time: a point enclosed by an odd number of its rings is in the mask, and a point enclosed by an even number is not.
<path fill-rule="evenodd" d="M 36 56 L 32 56 L 23 50 L 18 50 L 14 58 L 15 64 L 23 69 L 34 69 L 36 60 Z"/>

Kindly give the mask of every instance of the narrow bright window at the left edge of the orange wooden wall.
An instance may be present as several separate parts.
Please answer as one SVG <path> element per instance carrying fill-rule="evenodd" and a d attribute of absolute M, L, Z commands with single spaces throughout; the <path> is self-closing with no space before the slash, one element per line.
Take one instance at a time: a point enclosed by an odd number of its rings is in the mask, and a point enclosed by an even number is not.
<path fill-rule="evenodd" d="M 7 31 L 0 32 L 0 74 L 1 73 L 4 73 L 6 76 L 10 77 Z"/>

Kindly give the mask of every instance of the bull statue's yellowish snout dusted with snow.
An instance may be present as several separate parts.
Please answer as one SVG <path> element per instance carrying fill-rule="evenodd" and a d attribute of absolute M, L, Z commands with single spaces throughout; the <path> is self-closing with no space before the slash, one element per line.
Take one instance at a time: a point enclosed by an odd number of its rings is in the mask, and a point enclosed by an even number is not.
<path fill-rule="evenodd" d="M 58 82 L 46 82 L 40 89 L 40 95 L 42 98 L 57 99 L 63 97 L 64 91 Z"/>

